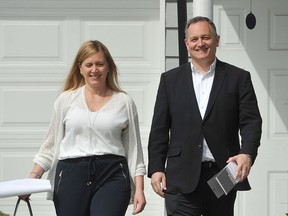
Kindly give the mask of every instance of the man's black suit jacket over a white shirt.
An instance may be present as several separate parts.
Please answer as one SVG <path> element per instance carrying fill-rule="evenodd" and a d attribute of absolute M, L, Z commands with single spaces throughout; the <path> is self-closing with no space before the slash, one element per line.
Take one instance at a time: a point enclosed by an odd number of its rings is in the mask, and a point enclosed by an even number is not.
<path fill-rule="evenodd" d="M 149 136 L 148 177 L 165 172 L 168 191 L 190 193 L 200 176 L 203 138 L 220 169 L 229 157 L 239 153 L 250 154 L 254 162 L 261 125 L 249 72 L 217 59 L 203 119 L 190 63 L 165 72 L 161 75 Z M 236 189 L 249 190 L 248 180 Z"/>

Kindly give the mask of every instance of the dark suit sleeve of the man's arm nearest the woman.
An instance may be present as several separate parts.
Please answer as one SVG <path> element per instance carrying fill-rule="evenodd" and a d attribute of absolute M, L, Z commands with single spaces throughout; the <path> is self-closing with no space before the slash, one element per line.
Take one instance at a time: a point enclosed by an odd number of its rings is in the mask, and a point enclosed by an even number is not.
<path fill-rule="evenodd" d="M 165 172 L 165 162 L 170 130 L 169 100 L 165 73 L 161 75 L 156 97 L 154 116 L 148 143 L 148 177 L 155 172 Z"/>

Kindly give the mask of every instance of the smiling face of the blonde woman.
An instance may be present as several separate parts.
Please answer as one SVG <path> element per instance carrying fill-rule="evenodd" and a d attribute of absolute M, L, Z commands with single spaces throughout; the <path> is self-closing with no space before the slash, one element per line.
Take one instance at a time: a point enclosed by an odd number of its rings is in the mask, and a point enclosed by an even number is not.
<path fill-rule="evenodd" d="M 79 67 L 86 85 L 90 87 L 101 87 L 106 85 L 109 66 L 102 51 L 89 56 Z"/>

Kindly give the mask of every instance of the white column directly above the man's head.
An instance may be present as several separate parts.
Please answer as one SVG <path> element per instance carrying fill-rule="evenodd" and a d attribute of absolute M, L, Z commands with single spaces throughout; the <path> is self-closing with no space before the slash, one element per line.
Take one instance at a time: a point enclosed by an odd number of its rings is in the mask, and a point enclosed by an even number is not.
<path fill-rule="evenodd" d="M 193 17 L 205 16 L 213 20 L 213 0 L 193 0 Z"/>

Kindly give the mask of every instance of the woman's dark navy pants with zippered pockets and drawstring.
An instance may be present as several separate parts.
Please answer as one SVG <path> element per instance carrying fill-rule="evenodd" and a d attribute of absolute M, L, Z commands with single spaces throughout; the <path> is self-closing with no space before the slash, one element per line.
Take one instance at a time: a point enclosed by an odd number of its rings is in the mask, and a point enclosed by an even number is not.
<path fill-rule="evenodd" d="M 57 216 L 124 216 L 130 196 L 125 157 L 101 155 L 58 162 L 53 197 Z"/>

